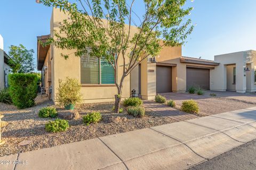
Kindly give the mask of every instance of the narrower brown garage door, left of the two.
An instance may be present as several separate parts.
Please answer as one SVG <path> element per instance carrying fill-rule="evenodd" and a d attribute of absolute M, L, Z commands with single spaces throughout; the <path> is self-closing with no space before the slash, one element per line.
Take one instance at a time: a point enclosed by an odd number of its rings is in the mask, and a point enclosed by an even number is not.
<path fill-rule="evenodd" d="M 156 66 L 156 92 L 172 91 L 172 67 Z"/>

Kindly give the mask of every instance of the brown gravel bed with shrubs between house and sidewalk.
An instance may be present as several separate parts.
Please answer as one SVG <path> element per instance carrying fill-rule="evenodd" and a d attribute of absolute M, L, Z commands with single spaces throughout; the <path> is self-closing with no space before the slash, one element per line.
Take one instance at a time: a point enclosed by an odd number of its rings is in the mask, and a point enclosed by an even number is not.
<path fill-rule="evenodd" d="M 40 118 L 37 113 L 40 108 L 52 105 L 51 101 L 41 96 L 37 96 L 34 107 L 27 109 L 19 110 L 12 105 L 0 103 L 0 113 L 4 115 L 3 121 L 9 123 L 3 129 L 2 137 L 6 143 L 0 146 L 0 156 L 177 122 L 154 112 L 146 112 L 143 118 L 134 118 L 126 112 L 114 114 L 112 111 L 114 103 L 82 104 L 77 107 L 79 114 L 83 116 L 92 111 L 98 111 L 102 114 L 102 121 L 86 126 L 82 118 L 71 120 L 68 131 L 49 133 L 44 127 L 49 120 L 53 119 Z M 124 117 L 126 121 L 123 121 Z M 19 143 L 25 140 L 30 140 L 31 143 L 27 146 L 19 146 Z"/>

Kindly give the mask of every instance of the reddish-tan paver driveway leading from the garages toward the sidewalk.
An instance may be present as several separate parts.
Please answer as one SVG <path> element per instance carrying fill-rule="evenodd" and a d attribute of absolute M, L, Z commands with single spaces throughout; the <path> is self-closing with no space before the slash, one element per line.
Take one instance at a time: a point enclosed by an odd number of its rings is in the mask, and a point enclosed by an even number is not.
<path fill-rule="evenodd" d="M 211 97 L 210 94 L 213 93 L 217 96 Z M 174 100 L 178 107 L 181 106 L 182 101 L 193 99 L 199 105 L 199 113 L 204 115 L 236 111 L 256 105 L 255 94 L 238 94 L 231 91 L 205 91 L 204 95 L 167 92 L 161 95 L 167 100 Z"/>

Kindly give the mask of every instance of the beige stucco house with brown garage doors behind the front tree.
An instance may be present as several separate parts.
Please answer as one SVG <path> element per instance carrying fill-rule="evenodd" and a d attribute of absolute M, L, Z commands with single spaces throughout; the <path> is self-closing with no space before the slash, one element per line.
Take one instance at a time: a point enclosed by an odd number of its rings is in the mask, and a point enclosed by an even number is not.
<path fill-rule="evenodd" d="M 87 55 L 81 58 L 75 57 L 74 51 L 62 50 L 50 45 L 43 47 L 39 43 L 53 37 L 53 30 L 58 30 L 59 23 L 67 18 L 68 15 L 53 8 L 51 34 L 37 37 L 37 69 L 42 71 L 46 94 L 54 100 L 59 79 L 73 77 L 82 84 L 84 103 L 114 101 L 114 95 L 117 94 L 114 72 L 107 62 Z M 136 31 L 137 28 L 132 27 L 131 33 Z M 61 57 L 61 53 L 70 54 L 68 60 Z M 129 61 L 128 58 L 126 61 Z M 120 60 L 117 64 L 119 79 L 122 75 L 123 61 Z M 130 76 L 126 77 L 122 97 L 130 97 L 133 89 L 143 99 L 153 99 L 159 92 L 185 92 L 190 86 L 210 89 L 210 72 L 218 65 L 218 62 L 183 57 L 181 46 L 163 47 L 159 56 L 143 60 Z"/>

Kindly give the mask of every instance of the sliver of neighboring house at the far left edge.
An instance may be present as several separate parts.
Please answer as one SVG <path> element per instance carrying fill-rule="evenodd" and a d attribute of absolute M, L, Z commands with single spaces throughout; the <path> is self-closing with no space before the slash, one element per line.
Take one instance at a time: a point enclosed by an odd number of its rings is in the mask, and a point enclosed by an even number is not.
<path fill-rule="evenodd" d="M 8 87 L 8 75 L 10 73 L 10 66 L 8 61 L 10 57 L 4 52 L 4 40 L 0 35 L 0 89 Z"/>

